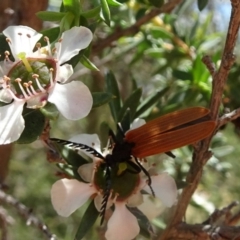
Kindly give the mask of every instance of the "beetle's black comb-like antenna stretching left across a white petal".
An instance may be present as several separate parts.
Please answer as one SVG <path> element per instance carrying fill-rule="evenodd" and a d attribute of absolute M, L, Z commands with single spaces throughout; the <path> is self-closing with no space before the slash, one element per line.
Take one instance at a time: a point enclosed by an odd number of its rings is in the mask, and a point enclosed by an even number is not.
<path fill-rule="evenodd" d="M 53 142 L 60 143 L 60 144 L 62 144 L 64 146 L 73 148 L 73 149 L 85 150 L 86 152 L 92 154 L 94 157 L 100 158 L 100 159 L 105 161 L 105 158 L 102 156 L 102 154 L 100 154 L 94 148 L 89 147 L 89 146 L 87 146 L 85 144 L 75 143 L 75 142 L 71 142 L 71 141 L 67 141 L 67 140 L 63 140 L 63 139 L 58 139 L 58 138 L 50 138 L 50 140 L 53 141 Z"/>

